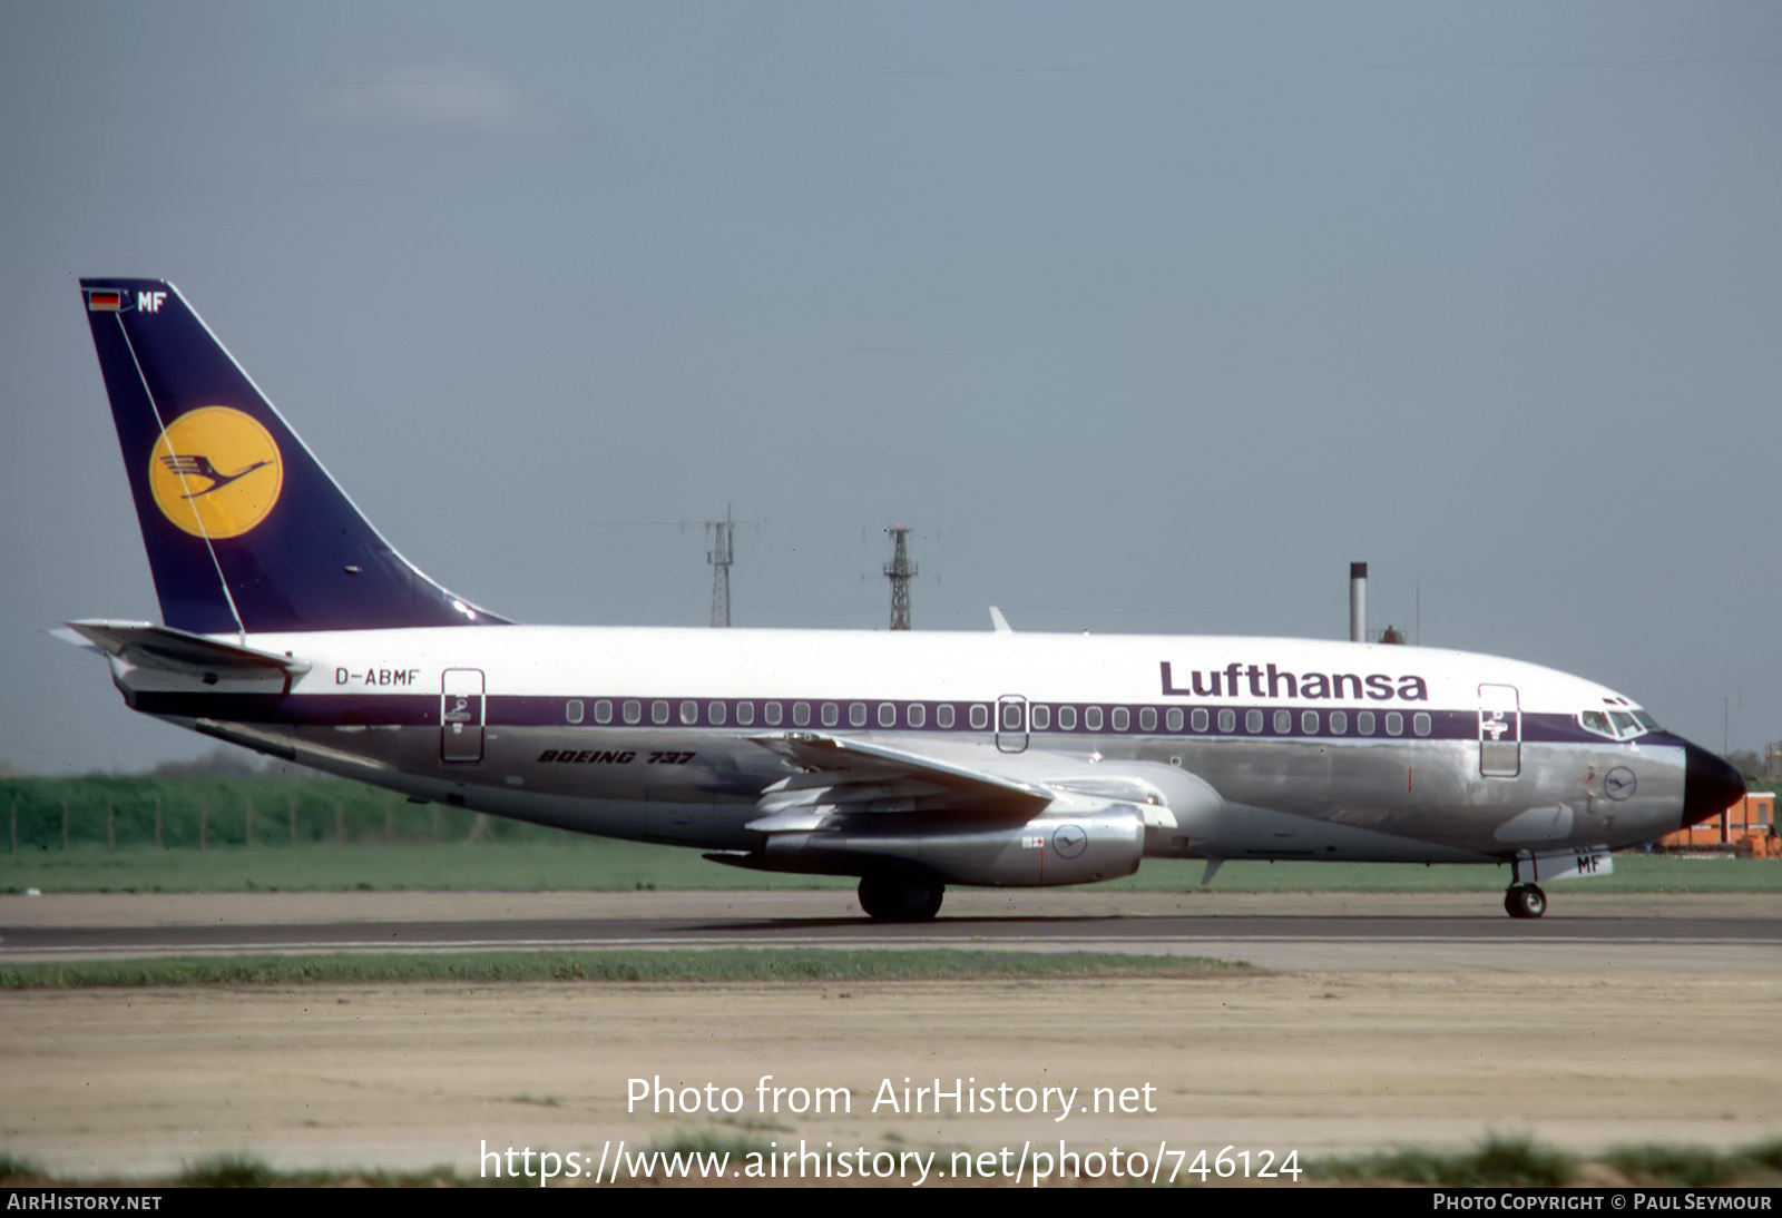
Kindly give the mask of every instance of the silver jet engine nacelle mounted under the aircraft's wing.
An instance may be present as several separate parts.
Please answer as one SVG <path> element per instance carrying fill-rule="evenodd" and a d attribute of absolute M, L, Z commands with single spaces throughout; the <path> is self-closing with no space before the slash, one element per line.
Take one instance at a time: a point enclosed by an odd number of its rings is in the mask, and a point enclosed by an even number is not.
<path fill-rule="evenodd" d="M 886 819 L 861 814 L 834 828 L 775 833 L 752 865 L 829 874 L 916 867 L 944 883 L 1039 889 L 1130 876 L 1144 858 L 1144 814 L 1107 800 L 1062 796 L 1026 824 L 923 819 L 886 830 Z"/>

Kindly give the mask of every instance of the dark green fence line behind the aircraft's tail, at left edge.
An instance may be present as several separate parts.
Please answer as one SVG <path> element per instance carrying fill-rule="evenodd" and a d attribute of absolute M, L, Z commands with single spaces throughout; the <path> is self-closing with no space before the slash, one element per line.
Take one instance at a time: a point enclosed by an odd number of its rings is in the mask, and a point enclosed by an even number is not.
<path fill-rule="evenodd" d="M 280 848 L 527 840 L 481 817 L 339 778 L 0 778 L 9 849 Z"/>

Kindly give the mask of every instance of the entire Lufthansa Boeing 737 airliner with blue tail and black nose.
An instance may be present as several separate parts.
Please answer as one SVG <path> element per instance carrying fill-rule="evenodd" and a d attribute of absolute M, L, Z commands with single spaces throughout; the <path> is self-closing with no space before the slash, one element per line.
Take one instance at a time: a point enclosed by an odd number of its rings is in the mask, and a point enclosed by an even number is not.
<path fill-rule="evenodd" d="M 285 760 L 859 876 L 889 921 L 1148 857 L 1511 864 L 1540 917 L 1745 789 L 1613 689 L 1461 652 L 515 625 L 403 559 L 171 283 L 80 290 L 162 625 L 64 634 L 135 710 Z"/>

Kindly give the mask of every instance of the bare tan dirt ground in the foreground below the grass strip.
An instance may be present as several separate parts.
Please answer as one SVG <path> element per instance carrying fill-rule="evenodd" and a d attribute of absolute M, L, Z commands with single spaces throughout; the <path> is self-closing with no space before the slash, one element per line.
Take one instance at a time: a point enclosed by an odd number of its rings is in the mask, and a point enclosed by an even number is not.
<path fill-rule="evenodd" d="M 781 1150 L 1064 1140 L 1190 1157 L 1486 1131 L 1584 1152 L 1725 1147 L 1782 1133 L 1778 1011 L 1777 970 L 5 994 L 0 1149 L 71 1175 L 166 1173 L 225 1150 L 476 1175 L 483 1149 L 599 1157 L 608 1140 L 690 1133 Z M 734 1086 L 741 1111 L 627 1109 L 631 1079 L 658 1076 Z M 795 1093 L 763 1111 L 763 1076 L 845 1088 L 848 1111 L 788 1111 Z M 884 1081 L 902 1100 L 905 1077 L 1078 1088 L 1076 1108 L 875 1111 Z M 1094 1088 L 1140 1088 L 1139 1111 L 1089 1111 Z"/>

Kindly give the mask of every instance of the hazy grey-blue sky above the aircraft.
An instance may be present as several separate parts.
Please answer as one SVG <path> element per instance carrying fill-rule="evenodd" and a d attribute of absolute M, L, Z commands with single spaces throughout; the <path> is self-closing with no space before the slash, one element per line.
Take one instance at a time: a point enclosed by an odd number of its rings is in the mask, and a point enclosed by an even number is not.
<path fill-rule="evenodd" d="M 1782 737 L 1782 7 L 4 4 L 0 759 L 137 769 L 75 280 L 520 621 L 1347 636 Z"/>

